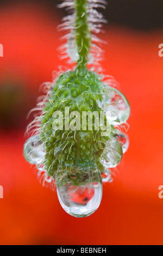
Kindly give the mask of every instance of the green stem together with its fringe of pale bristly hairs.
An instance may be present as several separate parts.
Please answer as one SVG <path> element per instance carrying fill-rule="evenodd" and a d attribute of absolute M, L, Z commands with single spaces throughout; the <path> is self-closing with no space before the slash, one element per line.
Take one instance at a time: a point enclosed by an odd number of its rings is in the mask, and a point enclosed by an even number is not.
<path fill-rule="evenodd" d="M 66 7 L 70 12 L 64 17 L 64 23 L 59 26 L 60 30 L 68 31 L 64 36 L 67 44 L 60 47 L 61 52 L 64 52 L 62 58 L 71 58 L 72 62 L 77 63 L 77 69 L 84 69 L 91 63 L 98 66 L 103 52 L 98 44 L 104 41 L 95 34 L 101 32 L 101 27 L 106 20 L 96 8 L 105 9 L 107 2 L 105 0 L 61 1 L 63 2 L 59 7 Z"/>

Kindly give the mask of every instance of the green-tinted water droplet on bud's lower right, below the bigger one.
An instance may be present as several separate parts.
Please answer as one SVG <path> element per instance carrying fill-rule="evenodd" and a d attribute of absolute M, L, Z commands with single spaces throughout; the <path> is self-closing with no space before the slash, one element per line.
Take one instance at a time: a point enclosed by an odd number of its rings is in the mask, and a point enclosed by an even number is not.
<path fill-rule="evenodd" d="M 121 162 L 123 155 L 121 144 L 116 139 L 110 139 L 100 157 L 100 162 L 105 168 L 116 167 Z"/>

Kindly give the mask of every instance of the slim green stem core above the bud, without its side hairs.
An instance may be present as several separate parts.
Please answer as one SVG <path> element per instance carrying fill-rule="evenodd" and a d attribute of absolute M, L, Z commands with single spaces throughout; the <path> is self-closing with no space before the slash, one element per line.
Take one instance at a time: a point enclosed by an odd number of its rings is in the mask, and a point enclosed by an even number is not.
<path fill-rule="evenodd" d="M 87 20 L 87 0 L 74 0 L 76 9 L 76 44 L 79 59 L 77 68 L 84 68 L 91 47 L 91 32 Z"/>

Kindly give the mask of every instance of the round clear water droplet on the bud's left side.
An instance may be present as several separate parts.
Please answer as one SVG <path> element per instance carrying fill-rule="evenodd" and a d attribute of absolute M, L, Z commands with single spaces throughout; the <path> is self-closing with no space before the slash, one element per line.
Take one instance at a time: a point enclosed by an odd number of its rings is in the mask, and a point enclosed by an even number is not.
<path fill-rule="evenodd" d="M 38 136 L 27 139 L 24 144 L 23 154 L 25 159 L 32 164 L 40 164 L 45 158 L 42 141 Z"/>

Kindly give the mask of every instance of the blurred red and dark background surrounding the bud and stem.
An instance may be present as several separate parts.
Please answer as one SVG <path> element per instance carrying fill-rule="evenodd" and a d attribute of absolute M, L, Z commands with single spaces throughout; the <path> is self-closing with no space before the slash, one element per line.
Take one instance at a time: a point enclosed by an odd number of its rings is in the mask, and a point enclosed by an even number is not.
<path fill-rule="evenodd" d="M 62 210 L 22 153 L 40 84 L 67 65 L 58 58 L 57 25 L 65 15 L 58 2 L 0 1 L 0 244 L 162 245 L 163 2 L 108 0 L 104 10 L 108 25 L 100 36 L 108 44 L 101 65 L 130 102 L 130 147 L 112 184 L 103 186 L 99 209 L 84 219 Z"/>

